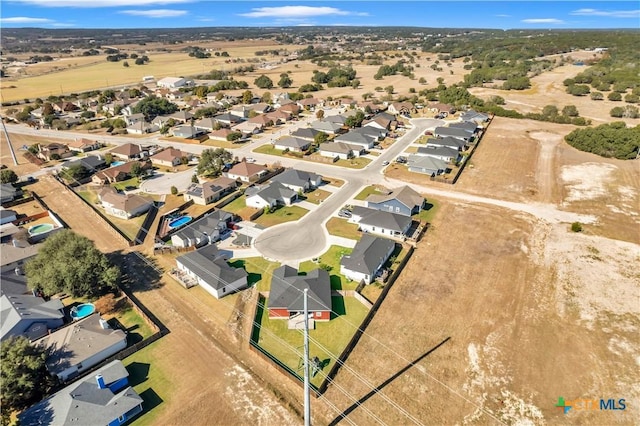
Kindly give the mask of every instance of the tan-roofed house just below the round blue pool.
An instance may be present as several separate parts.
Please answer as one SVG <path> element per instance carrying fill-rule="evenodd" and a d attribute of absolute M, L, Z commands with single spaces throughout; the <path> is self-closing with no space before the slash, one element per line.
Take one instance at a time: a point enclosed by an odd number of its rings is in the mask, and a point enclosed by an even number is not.
<path fill-rule="evenodd" d="M 44 349 L 49 374 L 66 382 L 126 348 L 127 335 L 112 329 L 96 312 L 33 344 Z"/>

